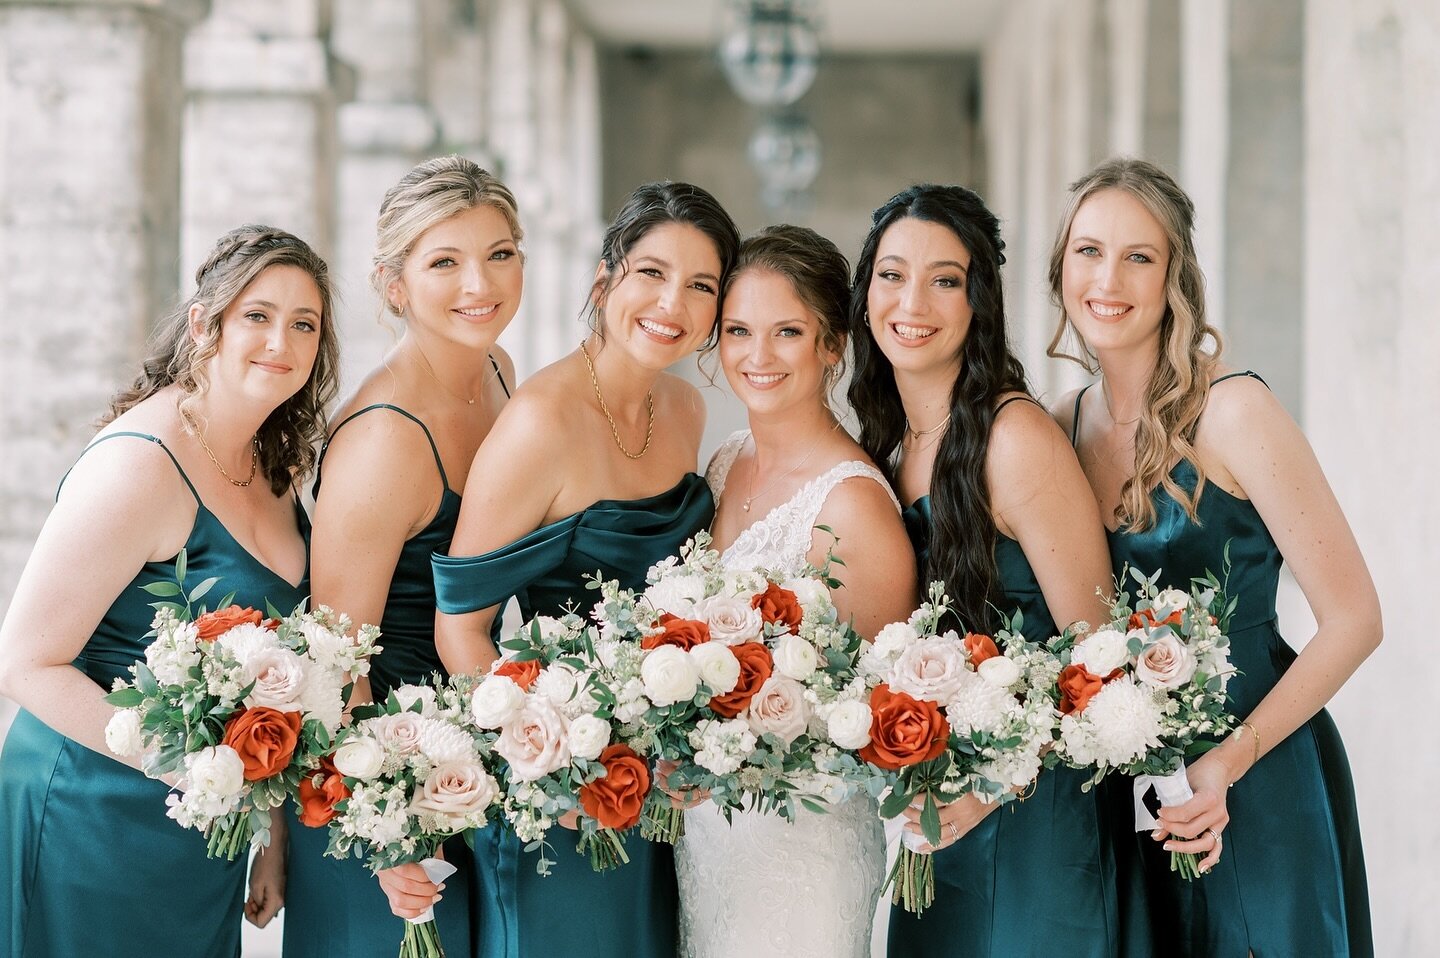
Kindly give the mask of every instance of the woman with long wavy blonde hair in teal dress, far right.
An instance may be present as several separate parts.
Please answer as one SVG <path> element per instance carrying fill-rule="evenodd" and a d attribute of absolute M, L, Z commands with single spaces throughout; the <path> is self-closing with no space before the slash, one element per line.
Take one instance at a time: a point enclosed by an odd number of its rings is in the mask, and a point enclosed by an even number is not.
<path fill-rule="evenodd" d="M 1158 954 L 1371 955 L 1355 788 L 1323 706 L 1380 643 L 1380 599 L 1295 421 L 1259 376 L 1220 362 L 1194 212 L 1161 169 L 1110 160 L 1071 187 L 1050 259 L 1051 354 L 1073 330 L 1102 375 L 1056 413 L 1115 524 L 1116 573 L 1159 569 L 1187 589 L 1224 575 L 1228 545 L 1238 599 L 1240 728 L 1188 766 L 1195 797 L 1165 808 L 1155 836 L 1123 834 L 1117 859 L 1149 900 Z M 1299 654 L 1276 630 L 1282 560 L 1320 624 Z M 1201 853 L 1208 874 L 1176 877 L 1161 841 Z"/>

